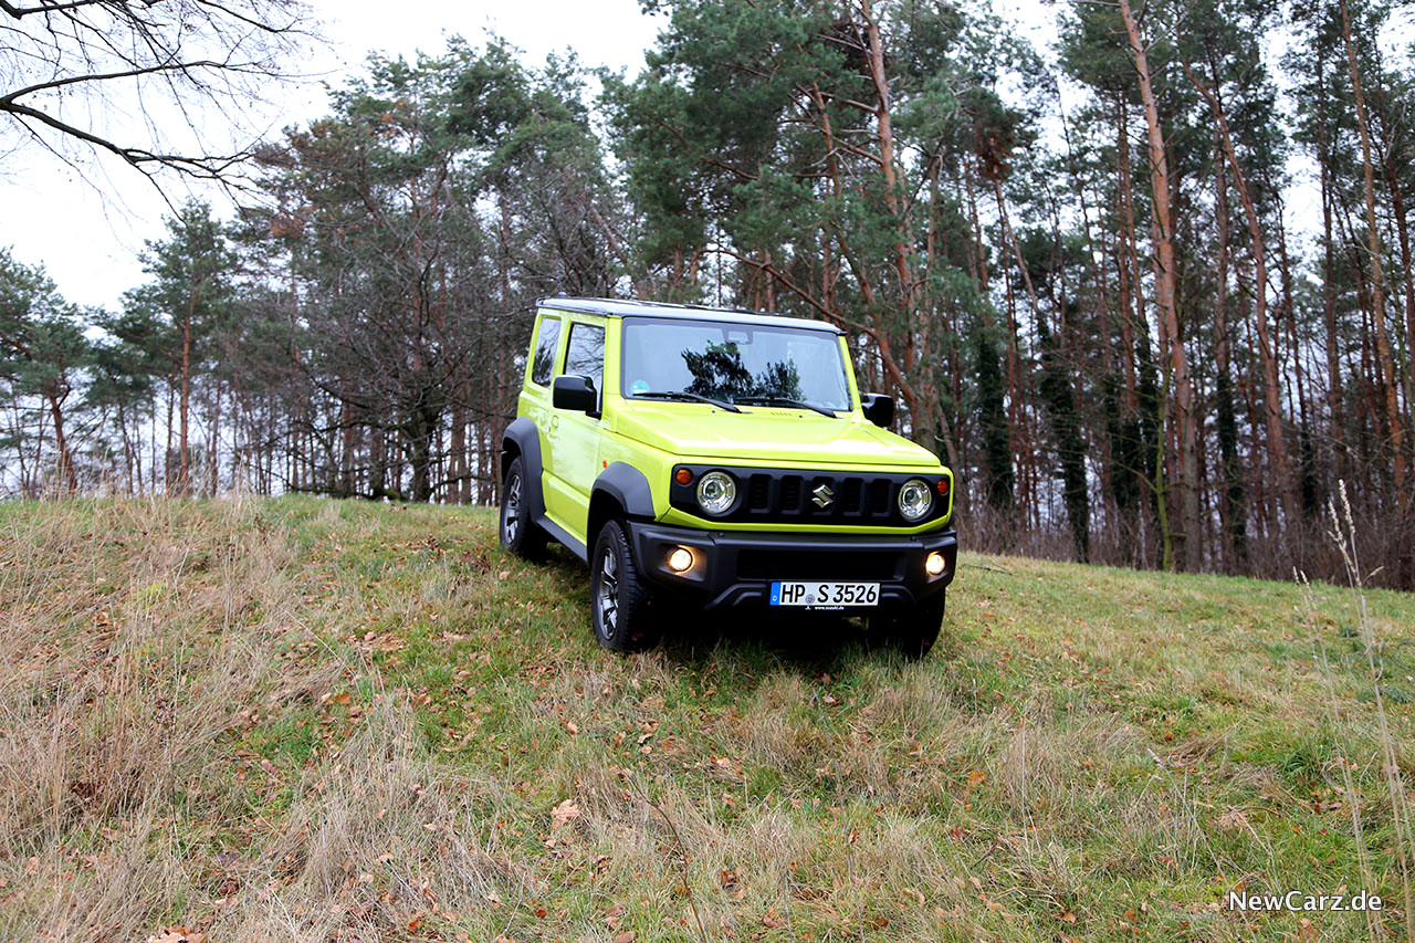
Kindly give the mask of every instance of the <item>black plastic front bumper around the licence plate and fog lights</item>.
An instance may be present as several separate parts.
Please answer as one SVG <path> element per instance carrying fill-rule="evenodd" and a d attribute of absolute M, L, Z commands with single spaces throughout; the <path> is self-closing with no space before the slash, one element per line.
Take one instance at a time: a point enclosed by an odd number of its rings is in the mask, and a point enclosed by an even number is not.
<path fill-rule="evenodd" d="M 703 609 L 767 606 L 775 581 L 877 582 L 879 607 L 897 609 L 942 592 L 958 565 L 955 531 L 778 534 L 628 521 L 628 532 L 642 575 L 655 586 L 696 596 Z M 685 573 L 668 568 L 668 555 L 678 547 L 693 552 Z M 944 558 L 944 571 L 930 576 L 924 559 L 935 551 Z"/>

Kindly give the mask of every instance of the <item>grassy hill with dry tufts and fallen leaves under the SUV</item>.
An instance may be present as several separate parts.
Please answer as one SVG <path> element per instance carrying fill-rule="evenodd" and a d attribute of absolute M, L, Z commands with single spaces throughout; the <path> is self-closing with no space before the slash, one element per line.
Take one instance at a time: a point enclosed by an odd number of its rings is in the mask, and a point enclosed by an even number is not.
<path fill-rule="evenodd" d="M 1407 937 L 1415 598 L 1377 690 L 1347 589 L 961 561 L 616 657 L 487 511 L 0 505 L 0 939 Z"/>

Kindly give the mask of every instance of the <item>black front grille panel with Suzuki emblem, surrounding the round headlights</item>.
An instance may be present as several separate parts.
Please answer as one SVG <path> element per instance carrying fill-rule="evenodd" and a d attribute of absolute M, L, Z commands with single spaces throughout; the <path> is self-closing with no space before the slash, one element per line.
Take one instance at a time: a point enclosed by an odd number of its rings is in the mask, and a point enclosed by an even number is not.
<path fill-rule="evenodd" d="M 688 484 L 675 480 L 668 503 L 693 517 L 706 517 L 698 505 L 698 479 L 708 471 L 727 471 L 737 481 L 737 504 L 720 518 L 723 522 L 760 524 L 841 524 L 866 527 L 906 527 L 896 500 L 904 481 L 921 477 L 931 484 L 944 471 L 930 474 L 848 474 L 811 473 L 794 469 L 733 469 L 722 466 L 676 466 L 692 471 Z M 937 496 L 934 510 L 920 524 L 948 513 L 948 497 Z"/>

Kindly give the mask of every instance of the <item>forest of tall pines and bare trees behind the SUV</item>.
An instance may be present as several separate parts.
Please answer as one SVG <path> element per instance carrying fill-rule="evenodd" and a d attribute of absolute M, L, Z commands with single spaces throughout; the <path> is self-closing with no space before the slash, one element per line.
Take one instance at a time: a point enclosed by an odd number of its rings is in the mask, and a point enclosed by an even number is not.
<path fill-rule="evenodd" d="M 637 75 L 371 57 L 67 302 L 0 248 L 0 490 L 494 504 L 538 297 L 849 331 L 972 549 L 1415 586 L 1415 62 L 1384 0 L 644 0 Z M 1343 510 L 1343 514 L 1347 513 Z"/>

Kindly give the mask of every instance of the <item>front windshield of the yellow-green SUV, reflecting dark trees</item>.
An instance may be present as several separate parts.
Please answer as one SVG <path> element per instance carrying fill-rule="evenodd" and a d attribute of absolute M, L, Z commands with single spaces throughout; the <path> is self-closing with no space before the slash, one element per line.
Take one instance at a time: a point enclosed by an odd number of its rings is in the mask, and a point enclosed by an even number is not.
<path fill-rule="evenodd" d="M 841 344 L 828 331 L 627 317 L 621 375 L 625 396 L 691 394 L 758 405 L 794 399 L 850 409 Z"/>

